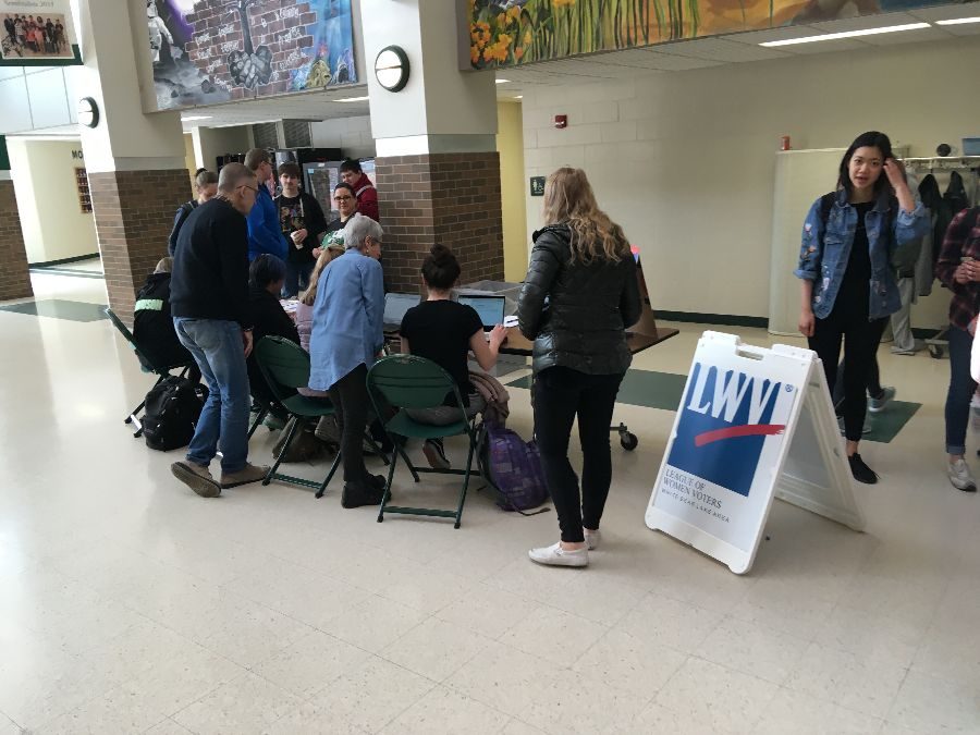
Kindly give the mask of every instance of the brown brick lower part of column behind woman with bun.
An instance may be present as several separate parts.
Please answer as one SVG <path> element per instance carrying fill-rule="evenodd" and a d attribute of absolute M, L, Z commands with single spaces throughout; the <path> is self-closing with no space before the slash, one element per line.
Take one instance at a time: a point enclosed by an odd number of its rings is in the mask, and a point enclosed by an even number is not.
<path fill-rule="evenodd" d="M 417 291 L 421 261 L 436 243 L 456 254 L 461 283 L 503 280 L 495 151 L 378 158 L 375 177 L 389 289 Z"/>

